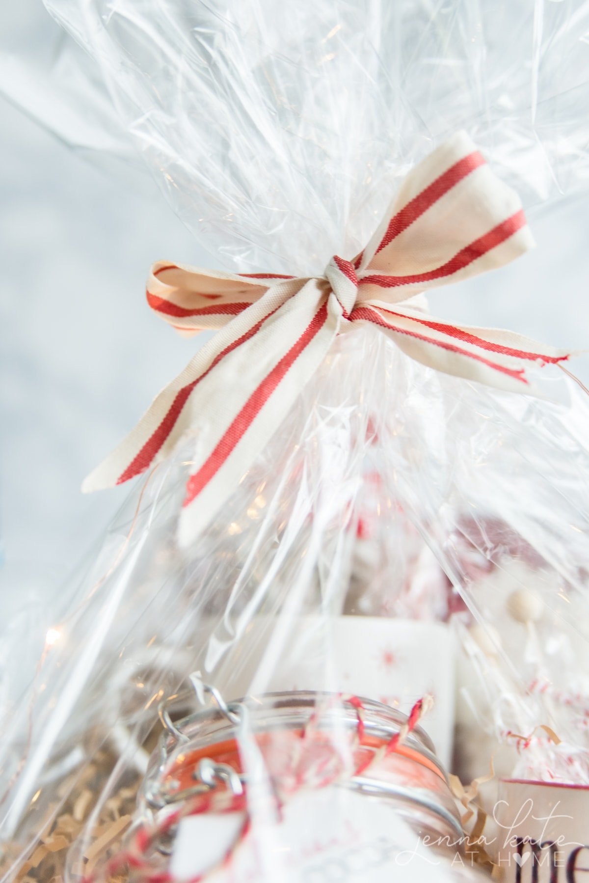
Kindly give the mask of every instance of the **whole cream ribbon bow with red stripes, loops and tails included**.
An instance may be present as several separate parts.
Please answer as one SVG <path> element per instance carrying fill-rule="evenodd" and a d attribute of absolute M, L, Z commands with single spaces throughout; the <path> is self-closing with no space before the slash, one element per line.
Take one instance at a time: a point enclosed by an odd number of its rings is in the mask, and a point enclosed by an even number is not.
<path fill-rule="evenodd" d="M 501 267 L 533 245 L 517 194 L 464 132 L 404 179 L 364 252 L 333 257 L 321 277 L 230 274 L 156 263 L 147 301 L 183 334 L 218 334 L 155 398 L 85 491 L 121 484 L 170 454 L 198 426 L 180 519 L 192 540 L 215 515 L 321 364 L 336 335 L 371 322 L 408 356 L 447 374 L 530 391 L 525 365 L 556 351 L 510 331 L 435 320 L 422 291 Z"/>

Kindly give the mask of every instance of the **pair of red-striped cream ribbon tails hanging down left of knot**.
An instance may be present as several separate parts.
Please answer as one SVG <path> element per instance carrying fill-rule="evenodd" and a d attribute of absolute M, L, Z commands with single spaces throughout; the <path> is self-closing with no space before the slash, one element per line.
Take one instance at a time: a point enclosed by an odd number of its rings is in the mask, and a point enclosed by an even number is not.
<path fill-rule="evenodd" d="M 156 397 L 83 490 L 120 484 L 195 436 L 179 524 L 185 545 L 214 517 L 280 425 L 336 336 L 341 307 L 314 280 L 277 283 Z"/>

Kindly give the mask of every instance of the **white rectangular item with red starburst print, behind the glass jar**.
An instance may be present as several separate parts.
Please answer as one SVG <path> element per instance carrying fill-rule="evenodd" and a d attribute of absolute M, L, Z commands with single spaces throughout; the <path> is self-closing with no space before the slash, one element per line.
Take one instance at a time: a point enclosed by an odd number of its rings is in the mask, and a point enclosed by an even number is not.
<path fill-rule="evenodd" d="M 456 637 L 447 623 L 387 616 L 306 616 L 293 620 L 288 645 L 271 646 L 276 618 L 247 630 L 247 653 L 215 685 L 225 699 L 268 691 L 316 690 L 376 699 L 408 714 L 425 695 L 434 706 L 419 721 L 444 766 L 452 757 Z M 243 662 L 243 664 L 242 664 Z"/>

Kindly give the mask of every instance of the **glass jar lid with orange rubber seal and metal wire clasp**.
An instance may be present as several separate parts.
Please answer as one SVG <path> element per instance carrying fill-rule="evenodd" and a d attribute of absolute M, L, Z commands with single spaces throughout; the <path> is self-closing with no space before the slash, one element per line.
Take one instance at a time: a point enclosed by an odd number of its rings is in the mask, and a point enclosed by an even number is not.
<path fill-rule="evenodd" d="M 386 799 L 414 826 L 457 841 L 463 834 L 447 776 L 422 728 L 407 732 L 407 717 L 372 699 L 312 691 L 267 693 L 173 720 L 193 693 L 162 704 L 165 732 L 140 796 L 162 811 L 211 793 L 251 789 L 255 771 L 245 740 L 255 747 L 276 793 L 328 784 Z M 399 736 L 403 736 L 399 738 Z"/>

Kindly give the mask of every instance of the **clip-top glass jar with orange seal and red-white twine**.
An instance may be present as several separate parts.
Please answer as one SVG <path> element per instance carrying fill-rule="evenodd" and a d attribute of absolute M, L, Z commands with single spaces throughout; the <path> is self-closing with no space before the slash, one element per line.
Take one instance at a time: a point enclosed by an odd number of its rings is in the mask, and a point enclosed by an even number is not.
<path fill-rule="evenodd" d="M 156 874 L 197 878 L 216 862 L 226 864 L 236 844 L 243 846 L 246 830 L 250 838 L 256 826 L 268 832 L 268 796 L 276 798 L 273 824 L 282 845 L 276 846 L 275 837 L 268 846 L 264 835 L 261 852 L 289 855 L 288 879 L 331 879 L 321 868 L 326 862 L 344 868 L 348 856 L 351 866 L 367 863 L 359 879 L 371 880 L 368 865 L 390 862 L 399 845 L 416 861 L 423 860 L 424 847 L 430 856 L 448 858 L 462 851 L 463 829 L 447 776 L 427 734 L 419 727 L 406 732 L 404 714 L 370 699 L 311 691 L 226 705 L 208 689 L 216 707 L 178 720 L 173 715 L 186 707 L 186 696 L 161 708 L 165 732 L 150 759 L 134 826 L 135 832 L 146 826 L 144 855 Z M 227 829 L 212 844 L 215 830 L 205 821 L 231 813 L 241 813 L 243 825 L 230 826 L 232 834 Z M 190 857 L 186 864 L 186 836 L 180 836 L 190 817 L 199 817 L 201 825 L 188 841 L 196 864 Z M 179 841 L 184 845 L 178 860 Z M 239 861 L 244 863 L 243 855 Z M 228 879 L 283 879 L 276 868 L 265 876 L 249 866 L 241 873 L 240 866 Z M 341 869 L 334 873 L 333 879 L 348 879 Z"/>

